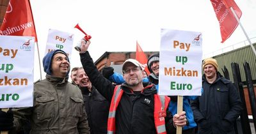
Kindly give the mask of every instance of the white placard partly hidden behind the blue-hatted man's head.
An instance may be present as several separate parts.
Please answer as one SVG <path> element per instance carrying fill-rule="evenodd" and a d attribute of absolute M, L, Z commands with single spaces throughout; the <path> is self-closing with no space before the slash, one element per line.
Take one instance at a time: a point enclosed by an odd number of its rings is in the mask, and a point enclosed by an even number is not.
<path fill-rule="evenodd" d="M 74 34 L 54 29 L 49 29 L 45 55 L 52 50 L 61 49 L 68 54 L 70 59 L 74 41 Z"/>

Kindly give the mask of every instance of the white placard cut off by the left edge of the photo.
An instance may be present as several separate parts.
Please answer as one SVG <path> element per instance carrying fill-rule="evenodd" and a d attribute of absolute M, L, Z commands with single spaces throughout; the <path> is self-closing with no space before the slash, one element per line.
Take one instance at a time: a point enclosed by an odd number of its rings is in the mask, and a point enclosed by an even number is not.
<path fill-rule="evenodd" d="M 33 106 L 34 42 L 0 36 L 0 108 Z"/>

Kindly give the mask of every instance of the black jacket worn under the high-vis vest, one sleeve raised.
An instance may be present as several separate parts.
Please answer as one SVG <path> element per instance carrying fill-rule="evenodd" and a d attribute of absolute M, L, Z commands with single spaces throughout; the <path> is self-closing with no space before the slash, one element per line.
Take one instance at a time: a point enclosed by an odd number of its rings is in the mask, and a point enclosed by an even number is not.
<path fill-rule="evenodd" d="M 111 102 L 115 86 L 104 78 L 93 64 L 89 52 L 80 54 L 81 63 L 93 86 Z M 143 86 L 147 86 L 145 83 Z M 122 85 L 124 94 L 116 109 L 116 133 L 156 133 L 154 124 L 154 94 L 155 86 L 143 90 L 141 94 L 134 94 L 129 87 Z M 166 131 L 175 130 L 172 114 L 166 110 Z"/>

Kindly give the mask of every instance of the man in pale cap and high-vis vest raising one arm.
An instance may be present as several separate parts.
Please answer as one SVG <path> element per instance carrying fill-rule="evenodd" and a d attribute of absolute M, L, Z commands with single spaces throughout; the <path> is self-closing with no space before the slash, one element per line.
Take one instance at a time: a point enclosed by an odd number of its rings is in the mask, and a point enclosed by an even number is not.
<path fill-rule="evenodd" d="M 153 84 L 143 85 L 143 71 L 138 61 L 127 59 L 122 66 L 125 83 L 113 86 L 93 64 L 87 51 L 89 45 L 90 41 L 81 42 L 81 63 L 93 86 L 111 101 L 108 133 L 170 133 L 175 126 L 186 124 L 185 112 L 172 117 L 166 110 L 170 98 L 158 96 Z"/>

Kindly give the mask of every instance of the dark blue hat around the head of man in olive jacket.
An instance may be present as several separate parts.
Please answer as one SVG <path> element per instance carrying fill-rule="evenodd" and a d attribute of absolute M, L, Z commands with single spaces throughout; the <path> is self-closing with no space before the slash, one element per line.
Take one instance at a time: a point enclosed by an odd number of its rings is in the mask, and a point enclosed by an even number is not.
<path fill-rule="evenodd" d="M 60 50 L 60 49 L 57 49 L 57 50 L 48 52 L 48 53 L 44 56 L 44 59 L 43 59 L 44 72 L 47 73 L 47 75 L 52 75 L 52 70 L 51 70 L 51 68 L 52 68 L 52 57 L 53 57 L 55 54 L 58 54 L 58 53 L 64 54 L 64 55 L 68 58 L 67 53 L 64 52 L 63 50 Z M 68 63 L 69 63 L 69 59 L 68 59 Z M 68 73 L 69 73 L 69 70 L 68 70 L 68 72 L 67 72 L 66 77 L 68 76 Z"/>

